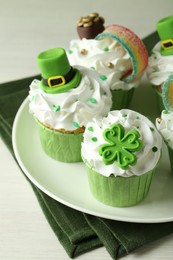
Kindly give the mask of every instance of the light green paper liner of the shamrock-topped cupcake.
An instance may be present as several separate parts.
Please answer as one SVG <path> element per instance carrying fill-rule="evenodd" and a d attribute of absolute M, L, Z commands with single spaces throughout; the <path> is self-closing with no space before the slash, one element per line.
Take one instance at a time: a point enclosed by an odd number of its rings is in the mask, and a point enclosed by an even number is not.
<path fill-rule="evenodd" d="M 141 176 L 110 177 L 87 167 L 90 190 L 100 202 L 114 207 L 129 207 L 138 204 L 147 196 L 154 170 Z"/>

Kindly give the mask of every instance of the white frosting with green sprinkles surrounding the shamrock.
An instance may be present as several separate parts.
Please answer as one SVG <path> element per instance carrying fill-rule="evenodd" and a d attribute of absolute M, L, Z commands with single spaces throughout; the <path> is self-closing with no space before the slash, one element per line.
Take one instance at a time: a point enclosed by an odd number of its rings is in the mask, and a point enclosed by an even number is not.
<path fill-rule="evenodd" d="M 127 169 L 122 169 L 114 161 L 112 164 L 106 165 L 103 158 L 99 155 L 99 147 L 108 142 L 103 137 L 103 131 L 110 128 L 112 124 L 119 123 L 125 128 L 125 132 L 129 130 L 137 130 L 142 141 L 142 148 L 135 152 L 137 162 L 135 165 L 129 165 Z M 92 131 L 91 131 L 92 129 Z M 95 141 L 93 141 L 95 138 Z M 87 124 L 84 141 L 82 143 L 82 157 L 98 173 L 104 176 L 128 177 L 133 175 L 142 175 L 153 170 L 157 165 L 162 147 L 162 138 L 154 124 L 145 116 L 138 112 L 122 109 L 108 113 L 106 118 L 95 120 Z"/>

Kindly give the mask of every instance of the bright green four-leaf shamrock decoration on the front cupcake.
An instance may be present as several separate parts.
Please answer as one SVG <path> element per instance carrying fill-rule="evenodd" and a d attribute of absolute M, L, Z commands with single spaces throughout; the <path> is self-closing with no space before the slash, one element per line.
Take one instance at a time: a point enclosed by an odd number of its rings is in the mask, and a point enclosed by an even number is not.
<path fill-rule="evenodd" d="M 109 144 L 101 145 L 99 154 L 106 165 L 117 161 L 120 168 L 127 169 L 129 165 L 136 163 L 137 158 L 133 153 L 142 147 L 138 131 L 130 130 L 125 133 L 121 124 L 114 124 L 111 128 L 105 129 L 103 137 Z"/>

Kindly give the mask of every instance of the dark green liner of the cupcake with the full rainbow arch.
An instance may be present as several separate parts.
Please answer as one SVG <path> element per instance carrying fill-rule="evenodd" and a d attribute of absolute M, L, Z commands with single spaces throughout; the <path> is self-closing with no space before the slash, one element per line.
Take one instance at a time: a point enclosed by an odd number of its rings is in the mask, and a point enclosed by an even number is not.
<path fill-rule="evenodd" d="M 112 110 L 119 110 L 122 108 L 128 108 L 133 94 L 134 88 L 130 90 L 111 90 L 112 93 Z"/>

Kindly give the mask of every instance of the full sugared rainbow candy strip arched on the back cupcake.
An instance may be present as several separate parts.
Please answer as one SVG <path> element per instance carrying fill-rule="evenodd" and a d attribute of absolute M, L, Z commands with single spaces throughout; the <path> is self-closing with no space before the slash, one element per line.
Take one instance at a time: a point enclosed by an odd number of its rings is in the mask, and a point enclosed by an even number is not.
<path fill-rule="evenodd" d="M 142 40 L 130 29 L 115 24 L 107 26 L 102 33 L 96 36 L 96 40 L 105 37 L 118 41 L 130 55 L 133 70 L 123 80 L 128 83 L 138 79 L 148 65 L 148 52 Z"/>

